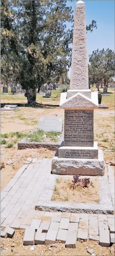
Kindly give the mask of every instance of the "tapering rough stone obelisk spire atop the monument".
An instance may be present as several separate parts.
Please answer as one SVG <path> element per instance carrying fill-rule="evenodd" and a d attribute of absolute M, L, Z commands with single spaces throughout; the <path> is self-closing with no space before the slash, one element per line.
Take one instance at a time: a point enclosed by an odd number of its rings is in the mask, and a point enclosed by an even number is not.
<path fill-rule="evenodd" d="M 70 89 L 89 89 L 85 3 L 75 4 Z"/>

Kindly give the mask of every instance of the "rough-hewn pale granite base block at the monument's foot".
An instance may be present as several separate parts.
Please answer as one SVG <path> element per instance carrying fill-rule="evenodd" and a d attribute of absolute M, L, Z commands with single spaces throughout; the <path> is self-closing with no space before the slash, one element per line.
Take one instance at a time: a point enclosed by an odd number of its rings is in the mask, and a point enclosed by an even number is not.
<path fill-rule="evenodd" d="M 105 170 L 104 155 L 98 150 L 98 159 L 59 158 L 58 150 L 52 159 L 52 174 L 103 176 Z"/>

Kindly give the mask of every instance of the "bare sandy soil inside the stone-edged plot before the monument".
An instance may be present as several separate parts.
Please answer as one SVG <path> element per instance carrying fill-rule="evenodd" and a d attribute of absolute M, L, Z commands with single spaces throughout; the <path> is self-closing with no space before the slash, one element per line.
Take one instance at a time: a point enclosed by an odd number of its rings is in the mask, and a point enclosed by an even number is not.
<path fill-rule="evenodd" d="M 76 203 L 99 203 L 99 182 L 94 176 L 80 176 L 79 179 L 90 178 L 93 186 L 90 184 L 84 188 L 80 183 L 73 189 L 71 178 L 59 178 L 55 185 L 52 201 L 76 202 Z"/>

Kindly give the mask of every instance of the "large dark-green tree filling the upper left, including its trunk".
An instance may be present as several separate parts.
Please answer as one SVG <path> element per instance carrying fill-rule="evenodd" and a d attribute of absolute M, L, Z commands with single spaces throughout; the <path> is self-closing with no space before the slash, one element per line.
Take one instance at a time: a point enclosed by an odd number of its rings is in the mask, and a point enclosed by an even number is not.
<path fill-rule="evenodd" d="M 2 5 L 8 9 L 8 31 L 12 33 L 11 37 L 4 34 L 8 44 L 2 55 L 2 73 L 19 81 L 26 90 L 28 105 L 35 106 L 37 88 L 53 79 L 58 81 L 71 65 L 72 8 L 66 6 L 66 0 L 1 2 L 7 3 Z M 3 9 L 2 12 L 1 28 L 4 30 Z M 66 22 L 72 24 L 71 29 L 67 29 Z M 86 30 L 92 32 L 95 27 L 96 22 L 92 21 Z M 4 48 L 7 42 L 3 40 Z"/>

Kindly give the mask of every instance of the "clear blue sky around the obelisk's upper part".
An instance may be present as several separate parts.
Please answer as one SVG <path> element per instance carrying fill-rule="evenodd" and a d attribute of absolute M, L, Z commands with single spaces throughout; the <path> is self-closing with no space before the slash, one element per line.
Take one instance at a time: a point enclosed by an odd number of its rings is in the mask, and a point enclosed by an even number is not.
<path fill-rule="evenodd" d="M 67 6 L 72 6 L 74 12 L 76 2 L 76 0 L 67 1 Z M 97 49 L 102 50 L 104 48 L 106 50 L 109 48 L 115 51 L 115 1 L 84 0 L 83 2 L 86 6 L 86 24 L 89 25 L 92 20 L 97 22 L 97 29 L 95 28 L 92 33 L 87 32 L 87 57 Z M 68 72 L 69 77 L 70 70 Z"/>

